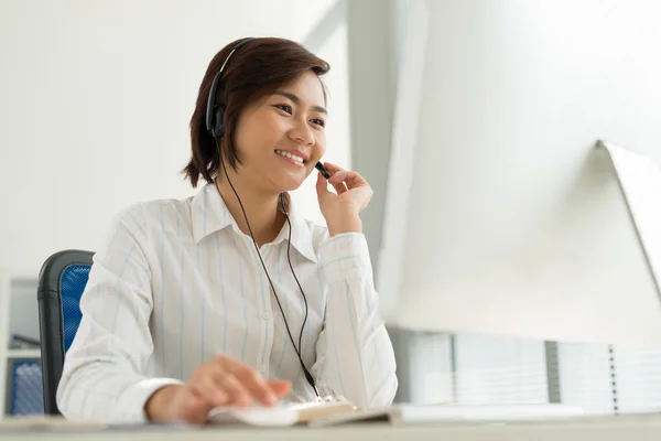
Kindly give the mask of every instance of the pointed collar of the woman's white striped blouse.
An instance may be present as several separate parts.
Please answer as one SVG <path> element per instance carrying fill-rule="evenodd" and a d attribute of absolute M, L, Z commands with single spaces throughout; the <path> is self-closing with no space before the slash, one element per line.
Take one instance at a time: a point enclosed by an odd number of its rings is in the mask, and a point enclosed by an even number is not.
<path fill-rule="evenodd" d="M 310 225 L 303 217 L 301 211 L 293 203 L 289 194 L 289 218 L 292 224 L 292 247 L 313 262 L 317 261 L 316 252 L 312 244 L 312 232 Z M 227 208 L 225 201 L 220 197 L 220 193 L 213 183 L 207 183 L 193 197 L 192 202 L 192 220 L 193 220 L 193 237 L 196 243 L 199 243 L 212 233 L 219 232 L 226 227 L 231 227 L 235 233 L 242 234 L 238 224 Z M 289 224 L 284 223 L 280 234 L 273 240 L 273 244 L 280 244 L 289 238 Z"/>

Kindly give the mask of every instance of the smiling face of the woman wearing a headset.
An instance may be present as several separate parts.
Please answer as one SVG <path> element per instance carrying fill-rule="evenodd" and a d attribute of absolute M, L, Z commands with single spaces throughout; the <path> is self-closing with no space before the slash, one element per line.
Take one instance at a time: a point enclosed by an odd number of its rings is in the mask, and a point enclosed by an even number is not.
<path fill-rule="evenodd" d="M 297 189 L 326 152 L 325 125 L 324 90 L 307 71 L 240 115 L 235 132 L 239 176 L 273 193 Z"/>

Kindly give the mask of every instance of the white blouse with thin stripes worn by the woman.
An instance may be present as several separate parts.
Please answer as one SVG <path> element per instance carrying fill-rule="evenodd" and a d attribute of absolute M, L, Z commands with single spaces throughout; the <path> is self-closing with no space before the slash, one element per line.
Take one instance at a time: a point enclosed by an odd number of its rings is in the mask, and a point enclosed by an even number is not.
<path fill-rule="evenodd" d="M 302 357 L 322 395 L 388 406 L 398 381 L 362 234 L 328 236 L 291 204 L 291 261 L 308 316 Z M 285 223 L 260 248 L 294 341 L 304 318 Z M 250 236 L 213 184 L 182 201 L 134 205 L 97 250 L 66 353 L 57 406 L 71 419 L 145 421 L 161 386 L 225 354 L 314 399 Z"/>

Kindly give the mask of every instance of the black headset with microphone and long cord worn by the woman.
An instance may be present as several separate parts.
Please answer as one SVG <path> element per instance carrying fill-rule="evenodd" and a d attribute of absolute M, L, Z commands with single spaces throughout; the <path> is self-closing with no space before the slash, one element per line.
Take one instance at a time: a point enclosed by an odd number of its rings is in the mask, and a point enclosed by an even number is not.
<path fill-rule="evenodd" d="M 303 324 L 301 325 L 301 333 L 299 334 L 299 347 L 296 347 L 296 344 L 294 343 L 294 337 L 292 336 L 292 333 L 289 327 L 289 323 L 286 322 L 286 316 L 284 315 L 284 311 L 282 310 L 282 304 L 280 303 L 280 298 L 278 297 L 278 293 L 275 292 L 275 287 L 273 286 L 273 282 L 271 281 L 271 276 L 269 275 L 269 271 L 267 270 L 267 266 L 264 263 L 264 260 L 262 259 L 261 252 L 259 250 L 259 246 L 257 245 L 257 241 L 254 240 L 254 236 L 252 235 L 252 228 L 250 227 L 250 223 L 248 222 L 248 216 L 246 215 L 246 209 L 243 208 L 241 198 L 239 197 L 239 194 L 235 190 L 235 187 L 229 179 L 227 169 L 225 166 L 225 161 L 223 161 L 223 152 L 220 151 L 220 138 L 223 138 L 223 136 L 225 135 L 225 127 L 224 127 L 225 106 L 216 104 L 216 94 L 218 93 L 218 86 L 223 79 L 223 72 L 225 71 L 225 66 L 227 65 L 227 62 L 229 61 L 229 58 L 234 55 L 235 52 L 239 51 L 241 47 L 243 47 L 245 45 L 247 45 L 248 43 L 250 43 L 254 40 L 256 39 L 250 37 L 250 39 L 246 39 L 246 40 L 242 40 L 241 42 L 237 43 L 230 51 L 229 55 L 227 55 L 227 58 L 225 58 L 223 66 L 220 66 L 220 71 L 218 71 L 218 73 L 214 77 L 214 82 L 212 83 L 212 88 L 209 90 L 209 97 L 207 100 L 206 128 L 212 133 L 212 136 L 214 137 L 214 139 L 216 141 L 216 148 L 218 149 L 218 155 L 220 159 L 220 166 L 223 168 L 223 171 L 225 172 L 227 182 L 229 183 L 229 186 L 234 191 L 235 195 L 237 196 L 237 201 L 239 202 L 239 205 L 241 206 L 241 211 L 243 212 L 243 218 L 246 219 L 246 225 L 248 225 L 248 230 L 250 232 L 250 237 L 252 238 L 252 243 L 257 250 L 257 255 L 259 256 L 259 260 L 261 261 L 261 265 L 264 269 L 267 278 L 269 279 L 271 290 L 273 290 L 273 295 L 275 297 L 275 301 L 278 302 L 278 306 L 280 308 L 280 313 L 282 314 L 282 319 L 284 320 L 284 326 L 286 327 L 286 333 L 290 337 L 290 341 L 292 342 L 294 352 L 296 353 L 296 355 L 299 357 L 299 362 L 301 363 L 301 367 L 303 368 L 305 379 L 307 380 L 310 386 L 312 386 L 312 388 L 314 389 L 316 397 L 321 398 L 319 391 L 316 387 L 316 383 L 315 383 L 312 374 L 307 369 L 307 367 L 305 367 L 305 363 L 303 363 L 303 357 L 301 356 L 301 349 L 302 349 L 301 341 L 303 338 L 303 329 L 305 327 L 305 322 L 307 321 L 308 308 L 307 308 L 307 298 L 305 297 L 305 292 L 303 292 L 303 288 L 301 287 L 301 283 L 299 282 L 299 278 L 296 277 L 296 273 L 294 272 L 294 268 L 292 266 L 292 260 L 291 260 L 291 255 L 290 255 L 290 249 L 291 249 L 290 246 L 291 246 L 291 241 L 292 241 L 292 224 L 290 222 L 289 215 L 284 207 L 283 197 L 282 197 L 282 195 L 280 195 L 279 202 L 282 207 L 282 212 L 285 215 L 286 223 L 289 225 L 289 240 L 286 244 L 286 258 L 288 258 L 292 275 L 294 276 L 294 279 L 296 280 L 296 284 L 299 286 L 299 289 L 301 290 L 301 295 L 303 295 L 303 302 L 305 304 L 305 316 L 303 318 Z M 328 173 L 326 168 L 321 162 L 317 162 L 315 168 L 319 171 L 319 173 L 322 173 L 322 175 L 324 178 L 326 178 L 326 179 L 330 178 L 330 173 Z"/>

